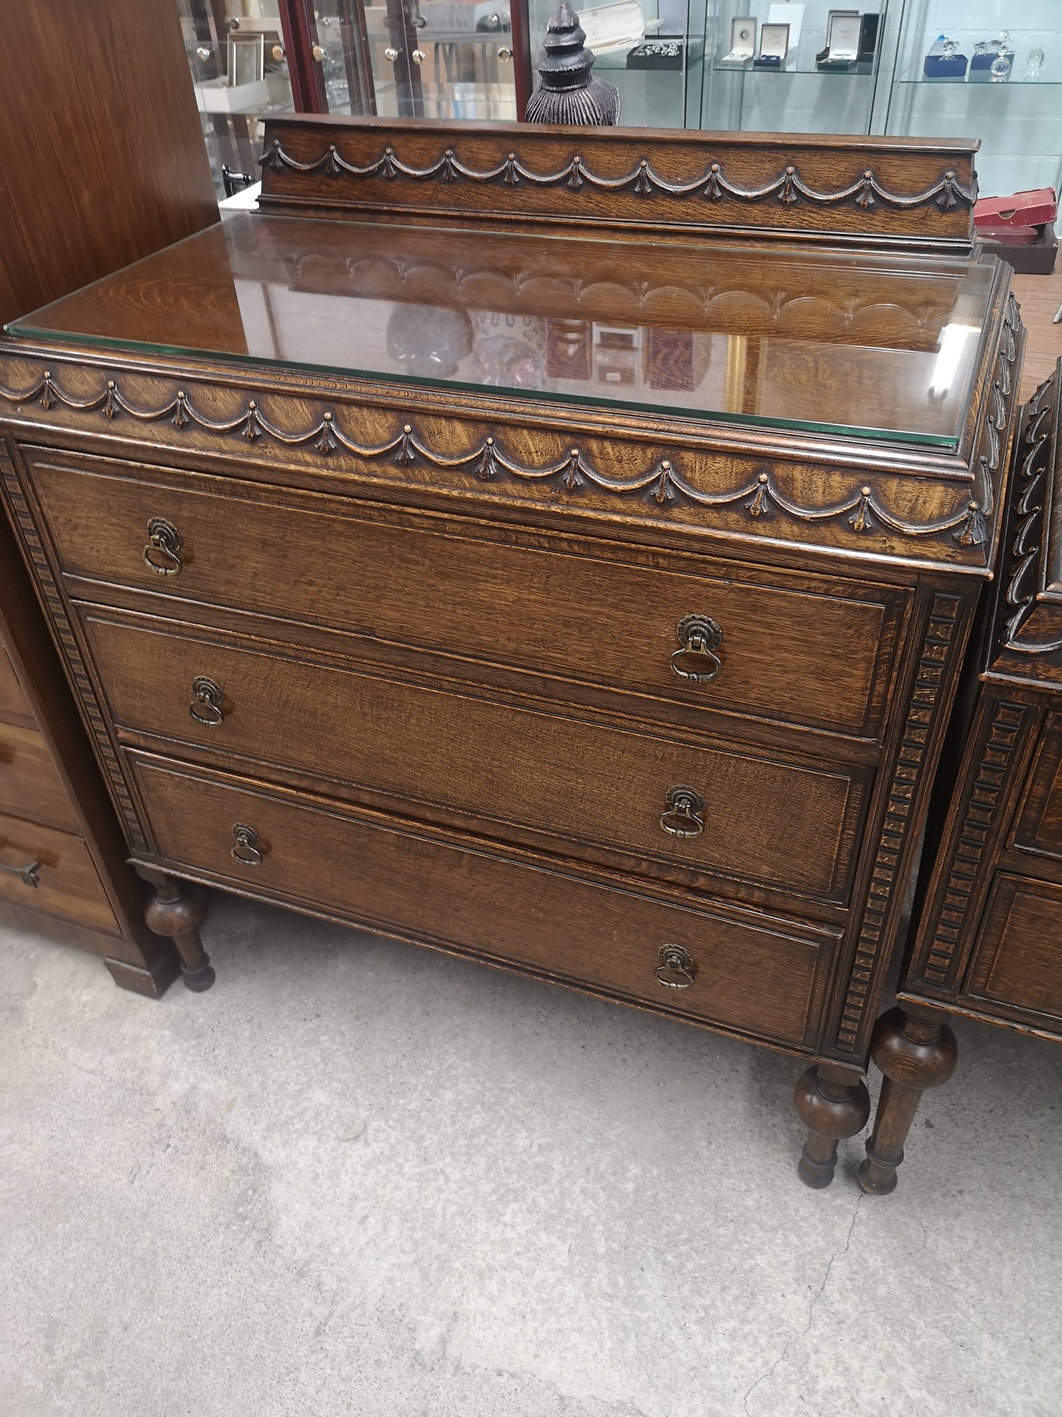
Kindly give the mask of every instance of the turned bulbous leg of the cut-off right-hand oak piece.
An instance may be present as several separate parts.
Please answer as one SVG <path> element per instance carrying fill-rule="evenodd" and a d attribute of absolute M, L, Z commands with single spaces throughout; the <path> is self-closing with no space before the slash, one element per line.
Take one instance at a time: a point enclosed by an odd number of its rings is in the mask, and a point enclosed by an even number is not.
<path fill-rule="evenodd" d="M 867 1161 L 860 1166 L 860 1185 L 869 1196 L 888 1196 L 896 1189 L 896 1168 L 903 1161 L 903 1142 L 922 1093 L 940 1087 L 954 1073 L 959 1046 L 937 1015 L 903 1006 L 878 1019 L 871 1056 L 885 1081 L 867 1142 Z"/>

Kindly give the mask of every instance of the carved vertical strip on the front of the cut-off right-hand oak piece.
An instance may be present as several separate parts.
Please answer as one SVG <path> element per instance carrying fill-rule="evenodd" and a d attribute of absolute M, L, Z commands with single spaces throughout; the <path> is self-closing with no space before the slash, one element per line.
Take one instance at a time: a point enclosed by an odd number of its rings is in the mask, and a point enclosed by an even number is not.
<path fill-rule="evenodd" d="M 977 915 L 980 887 L 991 873 L 993 846 L 1003 829 L 1003 805 L 1010 775 L 1037 710 L 1005 699 L 984 700 L 973 752 L 966 757 L 961 801 L 944 847 L 943 883 L 935 880 L 932 908 L 920 931 L 915 965 L 906 983 L 922 981 L 933 989 L 953 989 Z"/>

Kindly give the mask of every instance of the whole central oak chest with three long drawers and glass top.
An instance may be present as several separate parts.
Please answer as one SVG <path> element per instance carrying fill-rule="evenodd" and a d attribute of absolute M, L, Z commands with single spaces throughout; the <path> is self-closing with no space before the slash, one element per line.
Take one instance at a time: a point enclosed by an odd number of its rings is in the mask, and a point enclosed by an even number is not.
<path fill-rule="evenodd" d="M 11 327 L 4 497 L 190 985 L 180 881 L 735 1032 L 828 1183 L 1012 441 L 971 156 L 278 120 L 261 214 Z"/>

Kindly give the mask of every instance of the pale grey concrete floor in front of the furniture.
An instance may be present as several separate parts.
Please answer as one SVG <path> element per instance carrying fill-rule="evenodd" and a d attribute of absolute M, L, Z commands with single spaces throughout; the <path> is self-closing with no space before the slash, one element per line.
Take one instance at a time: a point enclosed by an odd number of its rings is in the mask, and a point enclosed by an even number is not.
<path fill-rule="evenodd" d="M 218 897 L 160 1003 L 0 930 L 4 1417 L 1062 1413 L 1062 1049 L 963 1024 L 901 1189 L 799 1064 Z M 877 1085 L 877 1083 L 875 1083 Z"/>

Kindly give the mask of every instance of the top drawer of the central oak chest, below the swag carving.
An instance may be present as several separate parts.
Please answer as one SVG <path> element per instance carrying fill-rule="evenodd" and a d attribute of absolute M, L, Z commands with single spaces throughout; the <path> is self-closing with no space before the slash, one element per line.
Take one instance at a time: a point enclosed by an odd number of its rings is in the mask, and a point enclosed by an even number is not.
<path fill-rule="evenodd" d="M 27 456 L 72 575 L 685 707 L 865 738 L 882 730 L 902 589 L 780 571 L 765 584 L 756 568 L 718 563 L 708 577 L 690 555 L 51 449 Z M 680 632 L 688 616 L 701 628 Z"/>

